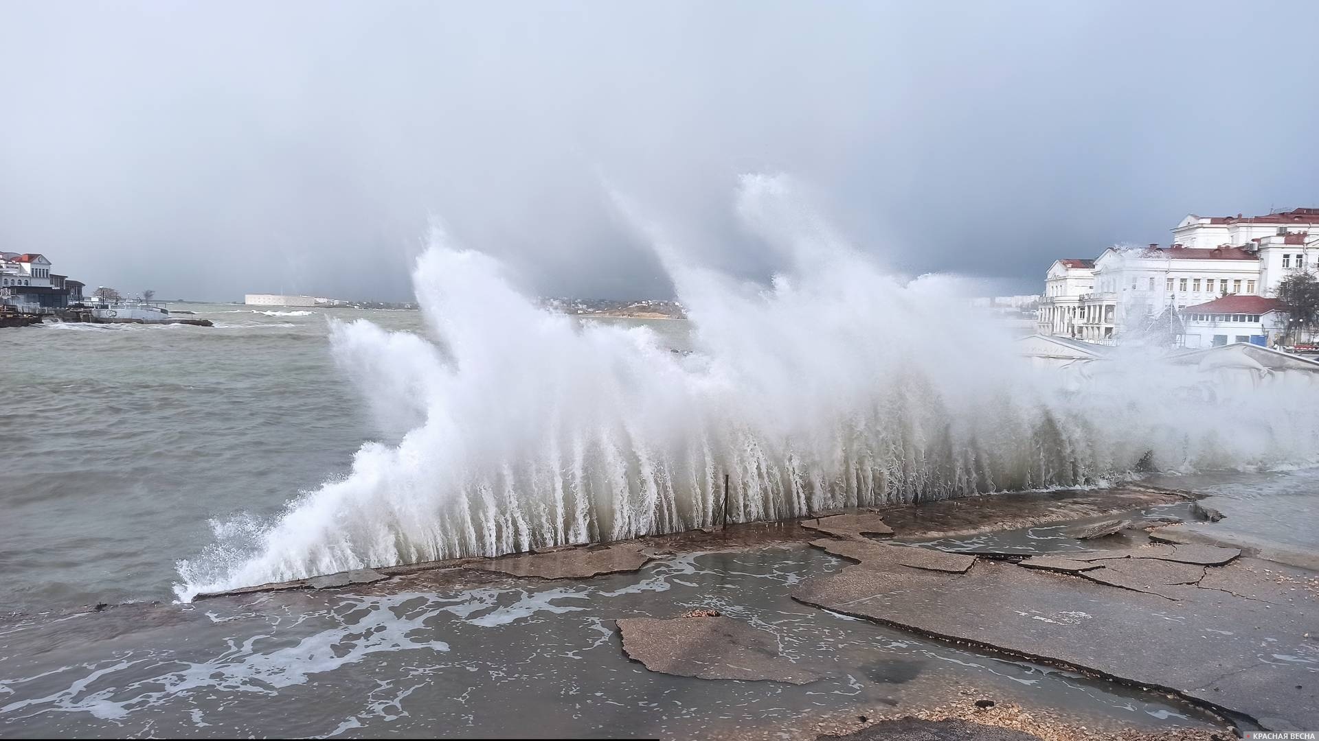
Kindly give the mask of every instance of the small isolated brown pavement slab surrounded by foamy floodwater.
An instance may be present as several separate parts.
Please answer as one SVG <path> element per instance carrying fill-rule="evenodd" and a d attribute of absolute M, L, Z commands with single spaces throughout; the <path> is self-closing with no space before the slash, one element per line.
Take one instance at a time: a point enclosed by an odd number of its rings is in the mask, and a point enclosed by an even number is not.
<path fill-rule="evenodd" d="M 698 679 L 809 684 L 828 674 L 785 657 L 778 637 L 731 617 L 628 617 L 623 651 L 650 671 Z"/>

